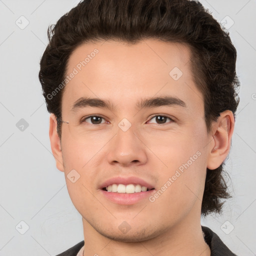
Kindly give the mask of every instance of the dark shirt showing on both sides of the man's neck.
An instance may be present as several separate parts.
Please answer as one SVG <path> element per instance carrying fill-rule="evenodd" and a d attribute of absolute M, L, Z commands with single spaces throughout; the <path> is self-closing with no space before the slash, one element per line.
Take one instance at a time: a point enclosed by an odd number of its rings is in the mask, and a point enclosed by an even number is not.
<path fill-rule="evenodd" d="M 210 256 L 237 256 L 220 240 L 210 228 L 201 226 L 204 232 L 204 240 L 210 247 Z M 84 245 L 84 241 L 80 241 L 68 250 L 56 256 L 76 256 L 80 248 Z"/>

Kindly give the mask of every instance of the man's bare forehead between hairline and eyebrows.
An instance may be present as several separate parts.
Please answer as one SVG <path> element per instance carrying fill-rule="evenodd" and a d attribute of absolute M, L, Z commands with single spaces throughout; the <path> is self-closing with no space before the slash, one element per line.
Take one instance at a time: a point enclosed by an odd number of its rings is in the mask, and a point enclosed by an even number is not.
<path fill-rule="evenodd" d="M 80 97 L 112 99 L 128 107 L 140 98 L 168 94 L 202 104 L 190 70 L 190 50 L 181 43 L 142 40 L 125 44 L 114 40 L 78 46 L 67 62 L 62 102 L 69 109 Z M 63 109 L 62 109 L 63 110 Z"/>

